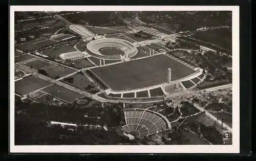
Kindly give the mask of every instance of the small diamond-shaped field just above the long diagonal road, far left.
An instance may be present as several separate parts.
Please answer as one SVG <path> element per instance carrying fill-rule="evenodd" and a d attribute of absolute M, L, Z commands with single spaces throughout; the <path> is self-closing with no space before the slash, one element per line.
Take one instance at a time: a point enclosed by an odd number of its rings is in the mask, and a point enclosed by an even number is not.
<path fill-rule="evenodd" d="M 43 60 L 43 59 L 39 59 L 39 58 L 35 58 L 32 61 L 24 61 L 22 62 L 22 64 L 24 64 L 27 67 L 30 67 L 34 70 L 39 70 L 39 69 L 47 69 L 47 68 L 51 68 L 54 66 L 57 66 L 56 64 Z"/>

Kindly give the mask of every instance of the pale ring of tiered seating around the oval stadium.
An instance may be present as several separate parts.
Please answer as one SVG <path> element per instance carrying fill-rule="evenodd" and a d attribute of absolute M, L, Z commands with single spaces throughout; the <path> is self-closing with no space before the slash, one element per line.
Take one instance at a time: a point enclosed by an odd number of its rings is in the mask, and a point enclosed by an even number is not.
<path fill-rule="evenodd" d="M 134 44 L 124 39 L 101 38 L 90 41 L 87 44 L 87 49 L 94 57 L 106 60 L 120 60 L 122 58 L 121 53 L 120 55 L 102 55 L 99 50 L 106 47 L 120 49 L 121 51 L 123 51 L 126 58 L 133 57 L 138 53 L 138 49 L 134 46 Z"/>

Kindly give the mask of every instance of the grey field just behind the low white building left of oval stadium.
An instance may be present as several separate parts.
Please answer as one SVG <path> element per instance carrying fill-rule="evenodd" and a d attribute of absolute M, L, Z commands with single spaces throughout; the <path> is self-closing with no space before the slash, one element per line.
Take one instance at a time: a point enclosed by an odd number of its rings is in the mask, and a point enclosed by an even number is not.
<path fill-rule="evenodd" d="M 53 48 L 42 50 L 39 53 L 48 55 L 52 58 L 58 58 L 60 54 L 69 53 L 69 52 L 76 52 L 76 50 L 73 47 L 71 47 L 70 44 L 64 43 L 61 45 L 57 45 L 56 47 L 53 47 Z"/>

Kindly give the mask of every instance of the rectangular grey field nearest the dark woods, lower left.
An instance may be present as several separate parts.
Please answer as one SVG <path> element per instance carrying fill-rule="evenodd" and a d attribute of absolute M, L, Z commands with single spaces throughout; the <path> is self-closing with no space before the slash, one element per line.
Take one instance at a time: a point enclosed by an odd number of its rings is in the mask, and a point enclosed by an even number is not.
<path fill-rule="evenodd" d="M 42 89 L 45 93 L 52 95 L 53 97 L 66 100 L 67 102 L 73 102 L 75 99 L 80 99 L 83 95 L 74 93 L 73 91 L 63 88 L 59 85 L 53 84 L 47 88 Z"/>

